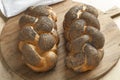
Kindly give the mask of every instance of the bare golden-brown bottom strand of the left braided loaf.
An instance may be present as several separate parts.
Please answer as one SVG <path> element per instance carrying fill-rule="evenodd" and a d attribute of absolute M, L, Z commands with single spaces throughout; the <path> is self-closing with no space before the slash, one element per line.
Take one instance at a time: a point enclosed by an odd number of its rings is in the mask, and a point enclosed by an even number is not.
<path fill-rule="evenodd" d="M 37 64 L 37 66 L 26 63 L 32 70 L 36 72 L 45 72 L 52 69 L 57 61 L 57 55 L 50 51 L 45 53 L 44 57 L 42 57 L 41 62 Z"/>

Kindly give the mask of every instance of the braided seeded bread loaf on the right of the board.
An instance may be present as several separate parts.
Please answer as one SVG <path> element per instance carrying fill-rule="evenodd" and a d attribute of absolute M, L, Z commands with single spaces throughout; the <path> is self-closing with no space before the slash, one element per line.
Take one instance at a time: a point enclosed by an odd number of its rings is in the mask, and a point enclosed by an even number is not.
<path fill-rule="evenodd" d="M 97 17 L 97 10 L 85 4 L 72 7 L 65 15 L 66 65 L 76 72 L 94 69 L 103 58 L 105 39 Z"/>

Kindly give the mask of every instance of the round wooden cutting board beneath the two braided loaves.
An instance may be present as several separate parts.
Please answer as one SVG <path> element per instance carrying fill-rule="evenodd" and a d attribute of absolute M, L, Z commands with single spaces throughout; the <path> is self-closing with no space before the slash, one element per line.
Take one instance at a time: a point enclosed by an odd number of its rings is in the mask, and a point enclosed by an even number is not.
<path fill-rule="evenodd" d="M 53 10 L 58 16 L 57 27 L 60 43 L 58 45 L 56 67 L 45 73 L 33 72 L 21 60 L 21 53 L 18 50 L 18 34 L 20 31 L 18 21 L 22 14 L 9 19 L 0 37 L 2 57 L 9 68 L 25 80 L 95 80 L 111 70 L 120 56 L 120 32 L 112 19 L 103 13 L 99 13 L 99 21 L 101 32 L 104 34 L 106 42 L 104 46 L 104 58 L 99 66 L 85 73 L 73 72 L 65 66 L 64 60 L 67 53 L 64 45 L 62 22 L 65 13 L 74 5 L 81 4 L 68 0 L 52 5 Z"/>

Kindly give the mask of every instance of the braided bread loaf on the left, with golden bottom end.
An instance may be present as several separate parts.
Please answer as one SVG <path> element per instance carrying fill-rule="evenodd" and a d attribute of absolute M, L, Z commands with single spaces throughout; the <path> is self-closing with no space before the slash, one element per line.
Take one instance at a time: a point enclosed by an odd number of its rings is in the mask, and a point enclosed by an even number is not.
<path fill-rule="evenodd" d="M 36 72 L 52 69 L 57 62 L 57 17 L 49 6 L 28 8 L 19 20 L 19 50 L 25 64 Z"/>

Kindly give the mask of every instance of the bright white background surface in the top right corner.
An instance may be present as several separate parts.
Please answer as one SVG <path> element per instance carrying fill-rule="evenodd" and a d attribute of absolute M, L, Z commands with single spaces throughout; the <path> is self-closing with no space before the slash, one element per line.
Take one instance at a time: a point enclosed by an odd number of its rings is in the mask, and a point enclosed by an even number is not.
<path fill-rule="evenodd" d="M 92 5 L 103 12 L 109 10 L 114 6 L 117 6 L 120 8 L 120 0 L 73 0 L 73 1 Z"/>

